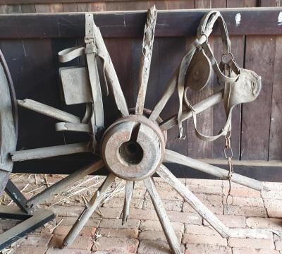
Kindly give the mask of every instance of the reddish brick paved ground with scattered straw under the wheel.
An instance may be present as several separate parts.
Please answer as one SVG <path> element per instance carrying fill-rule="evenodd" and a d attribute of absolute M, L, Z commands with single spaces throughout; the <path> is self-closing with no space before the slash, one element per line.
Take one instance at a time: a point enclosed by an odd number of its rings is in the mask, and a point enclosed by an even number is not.
<path fill-rule="evenodd" d="M 31 196 L 61 176 L 36 177 L 36 181 L 33 175 L 17 175 L 13 179 L 20 189 L 24 189 L 25 195 Z M 123 193 L 116 193 L 114 198 L 104 202 L 98 213 L 93 214 L 70 248 L 58 248 L 83 209 L 82 195 L 90 198 L 101 181 L 101 177 L 89 177 L 88 181 L 81 181 L 65 193 L 47 200 L 43 206 L 56 212 L 56 222 L 21 239 L 11 249 L 6 249 L 6 253 L 169 253 L 166 238 L 142 183 L 137 184 L 125 226 L 121 225 Z M 233 183 L 234 202 L 233 205 L 226 205 L 226 181 L 181 179 L 226 226 L 249 232 L 251 236 L 226 240 L 203 221 L 188 203 L 183 202 L 183 198 L 170 186 L 161 179 L 156 181 L 183 253 L 282 254 L 279 236 L 282 234 L 282 183 L 266 183 L 271 188 L 270 193 L 260 193 Z M 118 184 L 118 188 L 123 186 L 122 183 Z M 39 190 L 36 191 L 36 188 Z M 78 195 L 71 196 L 71 193 L 78 191 Z M 3 202 L 8 204 L 9 200 L 6 198 Z M 11 221 L 1 220 L 0 230 L 5 231 L 11 225 Z"/>

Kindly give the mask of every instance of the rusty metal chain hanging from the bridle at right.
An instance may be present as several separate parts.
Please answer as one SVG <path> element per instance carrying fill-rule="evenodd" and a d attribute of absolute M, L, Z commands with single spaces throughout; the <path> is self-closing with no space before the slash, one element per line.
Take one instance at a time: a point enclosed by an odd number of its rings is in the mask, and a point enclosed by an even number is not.
<path fill-rule="evenodd" d="M 231 181 L 234 173 L 234 167 L 232 163 L 233 150 L 231 147 L 231 131 L 228 131 L 228 133 L 225 136 L 224 156 L 228 160 L 228 167 L 229 167 L 229 172 L 228 172 L 229 190 L 228 190 L 228 195 L 226 197 L 226 205 L 228 205 L 229 198 L 231 198 L 231 203 L 229 205 L 233 205 L 234 198 L 233 195 L 231 194 Z"/>

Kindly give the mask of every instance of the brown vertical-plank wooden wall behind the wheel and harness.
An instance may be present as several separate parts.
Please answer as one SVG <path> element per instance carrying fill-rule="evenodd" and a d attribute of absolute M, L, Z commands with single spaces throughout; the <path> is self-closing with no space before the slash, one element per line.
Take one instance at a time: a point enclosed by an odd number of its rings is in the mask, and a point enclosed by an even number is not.
<path fill-rule="evenodd" d="M 152 4 L 156 4 L 159 9 L 180 9 L 180 8 L 226 8 L 226 7 L 252 7 L 252 6 L 280 6 L 279 1 L 254 1 L 254 0 L 210 0 L 210 1 L 104 1 L 104 2 L 71 2 L 71 0 L 61 0 L 60 2 L 49 3 L 49 0 L 37 0 L 33 3 L 30 0 L 20 1 L 23 4 L 17 4 L 16 0 L 1 0 L 0 6 L 1 13 L 42 13 L 42 12 L 70 12 L 70 11 L 127 11 L 127 10 L 145 10 Z M 263 18 L 263 17 L 262 17 Z M 282 34 L 282 27 L 281 27 Z M 136 87 L 132 88 L 131 85 L 135 85 L 134 81 L 137 77 L 137 66 L 140 58 L 140 38 L 108 38 L 106 39 L 106 46 L 109 49 L 111 58 L 116 66 L 118 78 L 121 81 L 123 90 L 125 91 L 125 97 L 128 99 L 130 106 L 134 105 L 136 97 Z M 150 74 L 149 83 L 151 83 L 150 93 L 152 96 L 146 101 L 146 106 L 152 108 L 157 100 L 157 97 L 161 94 L 164 86 L 168 82 L 170 75 L 173 73 L 177 64 L 183 56 L 183 52 L 187 49 L 188 45 L 192 42 L 191 37 L 169 37 L 164 40 L 158 37 L 154 42 L 154 54 L 152 59 L 152 73 Z M 19 43 L 23 43 L 23 47 L 20 47 Z M 23 40 L 23 42 L 17 42 L 16 47 L 18 52 L 13 52 L 13 46 L 11 41 L 0 41 L 0 48 L 3 50 L 5 56 L 9 56 L 7 59 L 11 68 L 12 76 L 16 77 L 17 96 L 20 95 L 20 99 L 24 99 L 22 96 L 32 96 L 36 91 L 26 91 L 24 89 L 25 83 L 32 83 L 34 80 L 30 80 L 32 77 L 28 73 L 20 73 L 20 68 L 25 68 L 32 73 L 32 68 L 36 72 L 37 82 L 42 85 L 48 85 L 50 75 L 47 76 L 44 72 L 53 72 L 51 65 L 55 68 L 57 59 L 56 54 L 59 50 L 65 47 L 72 47 L 75 44 L 81 44 L 82 40 Z M 213 37 L 210 43 L 214 49 L 214 53 L 217 58 L 221 56 L 221 40 L 219 37 Z M 13 43 L 12 43 L 13 44 Z M 277 176 L 281 177 L 281 161 L 282 161 L 282 35 L 233 35 L 231 37 L 232 50 L 235 55 L 235 59 L 239 65 L 245 68 L 250 68 L 253 71 L 259 73 L 262 76 L 262 92 L 259 98 L 250 104 L 244 104 L 243 107 L 235 109 L 233 117 L 233 134 L 232 134 L 232 146 L 234 152 L 234 159 L 236 160 L 248 160 L 254 162 L 254 160 L 261 160 L 264 162 L 278 160 L 278 167 L 276 167 L 275 176 L 269 178 L 266 165 L 262 179 L 274 180 Z M 36 55 L 32 52 L 44 50 L 45 53 L 40 53 L 40 59 L 36 58 Z M 5 54 L 6 53 L 6 54 Z M 17 54 L 18 53 L 18 54 Z M 20 56 L 20 54 L 30 54 L 34 58 L 27 60 Z M 50 56 L 51 55 L 51 56 Z M 13 57 L 20 57 L 21 62 L 13 61 Z M 55 58 L 55 59 L 54 59 Z M 18 65 L 17 65 L 18 64 Z M 44 70 L 37 68 L 38 65 L 45 66 Z M 32 67 L 33 66 L 33 67 Z M 48 67 L 46 69 L 46 67 Z M 21 70 L 23 71 L 23 70 Z M 44 77 L 46 77 L 44 79 Z M 56 83 L 56 77 L 51 76 Z M 129 88 L 131 87 L 131 88 Z M 150 88 L 149 87 L 149 88 Z M 51 91 L 51 89 L 53 89 Z M 216 85 L 216 79 L 214 78 L 214 84 L 211 84 L 209 88 L 198 92 L 197 94 L 190 94 L 192 102 L 198 102 L 200 99 L 211 95 L 214 91 L 218 90 Z M 41 98 L 44 102 L 44 94 L 38 94 L 37 100 Z M 56 88 L 50 87 L 49 92 L 51 94 L 58 92 Z M 154 96 L 153 96 L 154 95 Z M 171 101 L 169 106 L 166 107 L 164 118 L 176 113 L 177 110 L 177 96 L 175 95 L 174 101 Z M 66 109 L 66 108 L 64 108 Z M 222 127 L 225 120 L 223 107 L 216 106 L 213 109 L 209 109 L 200 114 L 198 119 L 199 126 L 203 126 L 204 133 L 216 133 Z M 41 120 L 40 120 L 41 121 Z M 23 121 L 22 121 L 23 123 Z M 45 137 L 45 140 L 40 141 L 41 130 L 44 129 L 44 120 L 39 123 L 39 128 L 36 129 L 32 135 L 27 133 L 28 127 L 32 128 L 32 123 L 23 123 L 20 130 L 19 144 L 22 148 L 40 147 L 44 145 L 56 145 L 61 143 L 58 141 L 58 136 L 54 138 Z M 188 121 L 184 124 L 185 132 L 187 133 L 186 140 L 178 140 L 178 131 L 176 128 L 170 130 L 168 148 L 181 152 L 184 155 L 197 158 L 209 158 L 209 159 L 224 159 L 223 147 L 224 139 L 220 138 L 214 143 L 204 143 L 195 137 L 194 128 L 192 122 Z M 59 135 L 59 134 L 57 134 Z M 32 142 L 26 144 L 27 140 L 32 139 Z M 69 135 L 63 137 L 64 142 L 67 139 L 69 143 L 73 138 Z M 54 142 L 53 142 L 54 141 Z M 25 144 L 24 144 L 25 143 Z M 42 144 L 43 143 L 43 144 Z M 218 163 L 218 162 L 216 162 Z M 255 162 L 254 162 L 255 163 Z M 219 162 L 221 164 L 221 162 Z M 252 163 L 250 163 L 252 166 Z M 270 166 L 269 166 L 270 167 Z M 182 167 L 178 168 L 180 171 Z M 176 169 L 176 171 L 178 171 Z M 248 175 L 252 173 L 248 172 Z M 261 173 L 258 173 L 261 174 Z M 181 174 L 180 174 L 181 175 Z"/>

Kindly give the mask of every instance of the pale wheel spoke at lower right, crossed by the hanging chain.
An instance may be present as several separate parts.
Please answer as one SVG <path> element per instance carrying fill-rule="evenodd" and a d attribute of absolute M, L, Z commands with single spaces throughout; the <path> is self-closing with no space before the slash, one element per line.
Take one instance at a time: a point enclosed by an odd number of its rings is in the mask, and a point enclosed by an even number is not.
<path fill-rule="evenodd" d="M 228 179 L 229 172 L 226 169 L 221 169 L 211 164 L 201 162 L 197 159 L 192 159 L 185 155 L 180 155 L 180 153 L 173 152 L 168 149 L 166 149 L 164 155 L 164 162 L 178 163 L 187 167 L 191 167 L 192 169 L 197 169 L 204 173 L 211 174 L 212 176 L 216 176 L 221 179 Z M 269 191 L 269 189 L 266 188 L 262 182 L 255 179 L 250 179 L 247 176 L 241 176 L 240 174 L 233 174 L 232 181 L 243 186 L 253 188 L 257 191 Z"/>

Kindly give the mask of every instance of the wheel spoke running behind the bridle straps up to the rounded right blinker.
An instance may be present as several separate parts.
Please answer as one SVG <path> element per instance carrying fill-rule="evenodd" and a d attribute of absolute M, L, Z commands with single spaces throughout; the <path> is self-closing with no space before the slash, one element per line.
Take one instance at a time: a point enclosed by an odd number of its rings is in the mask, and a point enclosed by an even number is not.
<path fill-rule="evenodd" d="M 195 109 L 195 114 L 199 114 L 200 112 L 209 109 L 209 107 L 212 107 L 215 104 L 221 102 L 222 99 L 223 99 L 223 90 L 216 92 L 214 95 L 211 95 L 206 99 L 203 99 L 201 102 L 198 102 L 195 105 L 193 105 L 193 109 Z M 192 117 L 192 112 L 190 111 L 190 109 L 183 110 L 181 121 L 185 121 L 190 117 Z M 161 128 L 161 131 L 166 131 L 176 125 L 177 125 L 177 114 L 163 121 L 159 125 L 159 127 Z"/>

